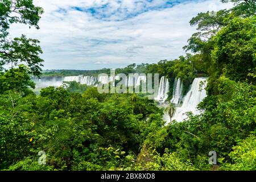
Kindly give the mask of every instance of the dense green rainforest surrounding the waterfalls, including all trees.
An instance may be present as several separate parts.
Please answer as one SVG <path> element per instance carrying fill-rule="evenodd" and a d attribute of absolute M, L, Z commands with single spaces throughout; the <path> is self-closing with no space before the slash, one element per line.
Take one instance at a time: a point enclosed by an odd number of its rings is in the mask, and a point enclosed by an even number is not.
<path fill-rule="evenodd" d="M 186 55 L 116 70 L 182 78 L 184 92 L 195 77 L 208 77 L 208 96 L 198 106 L 204 112 L 166 125 L 163 110 L 140 94 L 100 94 L 68 82 L 36 95 L 31 76 L 42 76 L 40 42 L 12 40 L 9 28 L 39 28 L 42 9 L 32 0 L 1 1 L 0 170 L 256 170 L 256 2 L 222 2 L 234 6 L 191 19 L 197 32 Z M 209 151 L 216 151 L 217 165 L 208 163 Z"/>

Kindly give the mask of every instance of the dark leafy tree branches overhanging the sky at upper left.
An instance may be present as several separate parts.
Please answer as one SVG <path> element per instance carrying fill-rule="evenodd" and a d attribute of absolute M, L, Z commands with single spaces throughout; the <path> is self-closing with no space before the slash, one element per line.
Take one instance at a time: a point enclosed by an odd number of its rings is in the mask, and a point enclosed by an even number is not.
<path fill-rule="evenodd" d="M 10 24 L 29 24 L 39 29 L 38 22 L 43 9 L 33 5 L 32 0 L 3 0 L 0 2 L 0 71 L 3 65 L 11 64 L 11 67 L 24 63 L 29 68 L 29 73 L 40 75 L 43 60 L 39 54 L 42 49 L 38 46 L 39 41 L 27 39 L 22 35 L 20 38 L 9 40 Z"/>

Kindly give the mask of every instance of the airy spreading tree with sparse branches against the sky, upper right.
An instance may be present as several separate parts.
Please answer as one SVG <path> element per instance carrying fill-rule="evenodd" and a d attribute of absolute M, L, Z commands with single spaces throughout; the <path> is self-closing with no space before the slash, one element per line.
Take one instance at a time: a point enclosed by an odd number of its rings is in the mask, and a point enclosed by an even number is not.
<path fill-rule="evenodd" d="M 234 6 L 229 10 L 220 10 L 216 16 L 211 16 L 209 11 L 199 13 L 189 22 L 191 26 L 196 26 L 196 32 L 188 39 L 188 45 L 183 48 L 186 51 L 205 52 L 205 47 L 211 48 L 209 44 L 212 36 L 215 36 L 221 28 L 225 27 L 230 20 L 237 16 L 247 18 L 255 15 L 256 1 L 254 0 L 222 0 L 223 3 L 233 2 Z"/>

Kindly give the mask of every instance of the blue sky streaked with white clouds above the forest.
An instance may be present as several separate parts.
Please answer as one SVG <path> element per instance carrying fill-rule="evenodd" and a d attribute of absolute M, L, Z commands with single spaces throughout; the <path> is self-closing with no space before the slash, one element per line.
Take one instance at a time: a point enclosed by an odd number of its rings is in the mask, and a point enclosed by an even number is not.
<path fill-rule="evenodd" d="M 218 0 L 34 0 L 40 30 L 11 26 L 11 37 L 39 39 L 43 69 L 123 68 L 184 55 L 200 12 L 231 7 Z"/>

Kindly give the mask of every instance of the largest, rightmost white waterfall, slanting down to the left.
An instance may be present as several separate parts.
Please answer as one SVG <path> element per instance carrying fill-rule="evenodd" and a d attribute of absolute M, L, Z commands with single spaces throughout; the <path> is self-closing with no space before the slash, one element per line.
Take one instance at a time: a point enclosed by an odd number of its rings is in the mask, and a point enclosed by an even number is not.
<path fill-rule="evenodd" d="M 201 85 L 201 81 L 203 84 Z M 180 107 L 176 107 L 176 112 L 172 120 L 183 121 L 187 118 L 188 111 L 192 111 L 193 114 L 200 114 L 197 110 L 197 105 L 207 97 L 205 87 L 207 85 L 207 78 L 195 78 L 191 85 L 191 89 L 183 98 L 183 104 Z"/>

